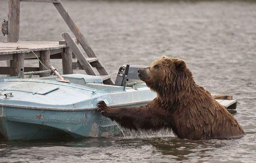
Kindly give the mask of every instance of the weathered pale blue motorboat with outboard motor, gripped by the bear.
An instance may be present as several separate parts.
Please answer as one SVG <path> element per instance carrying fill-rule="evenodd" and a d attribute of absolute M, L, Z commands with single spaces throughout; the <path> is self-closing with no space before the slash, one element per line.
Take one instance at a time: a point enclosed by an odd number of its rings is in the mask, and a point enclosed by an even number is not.
<path fill-rule="evenodd" d="M 130 67 L 129 73 L 125 67 Z M 105 85 L 101 77 L 86 74 L 2 77 L 0 133 L 7 140 L 119 135 L 119 126 L 99 114 L 96 103 L 104 100 L 112 107 L 138 107 L 154 99 L 156 94 L 135 75 L 139 68 L 122 66 L 116 85 Z M 236 109 L 236 100 L 230 96 L 215 98 L 227 109 Z"/>

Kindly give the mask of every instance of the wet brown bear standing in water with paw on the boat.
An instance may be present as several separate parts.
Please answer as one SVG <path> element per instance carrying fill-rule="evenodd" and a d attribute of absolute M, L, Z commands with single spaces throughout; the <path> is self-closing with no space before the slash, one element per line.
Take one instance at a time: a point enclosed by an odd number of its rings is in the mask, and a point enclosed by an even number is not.
<path fill-rule="evenodd" d="M 157 93 L 146 106 L 111 108 L 99 101 L 97 111 L 128 129 L 172 129 L 182 139 L 239 138 L 244 131 L 237 120 L 202 86 L 198 86 L 184 60 L 162 56 L 138 76 Z"/>

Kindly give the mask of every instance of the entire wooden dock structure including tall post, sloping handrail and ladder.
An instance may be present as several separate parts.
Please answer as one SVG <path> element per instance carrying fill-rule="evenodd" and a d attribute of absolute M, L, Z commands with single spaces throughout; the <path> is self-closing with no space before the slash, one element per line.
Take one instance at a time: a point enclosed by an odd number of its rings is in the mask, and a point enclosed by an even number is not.
<path fill-rule="evenodd" d="M 52 3 L 76 38 L 73 39 L 69 33 L 64 32 L 62 34 L 64 41 L 18 42 L 21 1 Z M 73 69 L 82 69 L 89 75 L 101 76 L 105 84 L 113 84 L 108 71 L 64 9 L 61 0 L 8 0 L 8 21 L 5 28 L 4 34 L 8 37 L 7 43 L 0 43 L 0 61 L 6 60 L 7 66 L 0 67 L 0 74 L 17 76 L 20 69 L 24 71 L 45 70 L 44 66 L 47 69 L 50 66 L 50 59 L 62 59 L 63 74 L 72 74 Z M 77 62 L 73 62 L 73 58 L 76 58 Z M 28 59 L 39 59 L 41 63 L 38 67 L 24 67 L 24 60 Z M 47 75 L 40 74 L 41 77 Z"/>

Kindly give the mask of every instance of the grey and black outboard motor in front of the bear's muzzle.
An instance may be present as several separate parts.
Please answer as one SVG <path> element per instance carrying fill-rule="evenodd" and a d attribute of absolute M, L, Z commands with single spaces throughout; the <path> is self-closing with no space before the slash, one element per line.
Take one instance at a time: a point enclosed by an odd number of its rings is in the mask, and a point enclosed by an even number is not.
<path fill-rule="evenodd" d="M 117 86 L 125 86 L 126 82 L 141 82 L 138 77 L 138 69 L 143 69 L 148 66 L 140 66 L 140 65 L 124 65 L 119 68 L 119 71 L 116 76 L 115 85 Z"/>

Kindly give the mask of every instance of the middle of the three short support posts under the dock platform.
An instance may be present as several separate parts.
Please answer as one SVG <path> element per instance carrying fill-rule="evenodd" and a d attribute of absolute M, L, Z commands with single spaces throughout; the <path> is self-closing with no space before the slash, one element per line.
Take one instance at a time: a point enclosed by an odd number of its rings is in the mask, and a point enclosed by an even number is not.
<path fill-rule="evenodd" d="M 50 67 L 50 51 L 43 50 L 40 51 L 40 60 L 48 69 Z M 47 70 L 40 62 L 39 62 L 39 71 Z M 50 74 L 39 74 L 39 77 L 48 77 Z"/>

